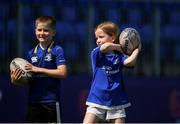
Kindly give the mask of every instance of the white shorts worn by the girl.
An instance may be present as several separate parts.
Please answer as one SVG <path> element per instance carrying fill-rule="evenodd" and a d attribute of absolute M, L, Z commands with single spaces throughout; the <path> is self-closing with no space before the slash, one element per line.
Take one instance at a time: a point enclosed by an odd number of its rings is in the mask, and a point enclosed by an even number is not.
<path fill-rule="evenodd" d="M 89 106 L 87 108 L 87 113 L 95 114 L 97 117 L 99 117 L 102 120 L 111 120 L 111 119 L 126 117 L 126 112 L 124 108 L 106 110 L 106 109 Z"/>

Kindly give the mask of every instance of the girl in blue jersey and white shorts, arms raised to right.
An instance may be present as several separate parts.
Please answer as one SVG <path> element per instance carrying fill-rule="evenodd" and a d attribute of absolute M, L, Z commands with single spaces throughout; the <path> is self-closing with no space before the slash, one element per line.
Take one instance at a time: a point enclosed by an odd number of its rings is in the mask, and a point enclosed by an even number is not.
<path fill-rule="evenodd" d="M 119 28 L 112 22 L 99 24 L 95 36 L 97 47 L 91 52 L 93 79 L 83 123 L 125 123 L 125 108 L 130 103 L 122 68 L 135 65 L 141 44 L 130 56 L 124 55 L 118 39 Z"/>

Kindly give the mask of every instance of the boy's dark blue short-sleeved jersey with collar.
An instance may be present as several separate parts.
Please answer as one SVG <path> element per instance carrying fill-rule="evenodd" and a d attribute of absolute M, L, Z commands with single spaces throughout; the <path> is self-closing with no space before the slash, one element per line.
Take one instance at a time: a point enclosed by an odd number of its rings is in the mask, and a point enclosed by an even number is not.
<path fill-rule="evenodd" d="M 57 69 L 59 65 L 65 65 L 63 49 L 58 45 L 53 45 L 50 49 L 42 49 L 39 45 L 35 49 L 28 52 L 28 61 L 34 66 Z M 59 99 L 60 79 L 53 78 L 45 74 L 34 74 L 33 80 L 29 84 L 29 101 L 48 103 L 55 102 Z"/>

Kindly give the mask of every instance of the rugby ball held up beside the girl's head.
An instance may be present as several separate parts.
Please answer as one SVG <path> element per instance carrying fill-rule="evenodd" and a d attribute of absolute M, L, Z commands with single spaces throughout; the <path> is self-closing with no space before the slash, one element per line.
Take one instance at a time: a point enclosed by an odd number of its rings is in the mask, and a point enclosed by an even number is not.
<path fill-rule="evenodd" d="M 134 28 L 125 28 L 119 35 L 119 43 L 123 52 L 131 55 L 141 43 L 140 35 Z"/>

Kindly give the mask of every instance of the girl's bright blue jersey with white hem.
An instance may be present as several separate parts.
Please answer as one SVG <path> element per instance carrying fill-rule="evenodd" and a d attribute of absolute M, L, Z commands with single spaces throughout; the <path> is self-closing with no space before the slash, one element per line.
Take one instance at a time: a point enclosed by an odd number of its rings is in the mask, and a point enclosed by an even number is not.
<path fill-rule="evenodd" d="M 103 109 L 118 109 L 130 106 L 122 68 L 125 55 L 114 52 L 103 54 L 100 47 L 91 52 L 93 80 L 86 104 Z"/>

